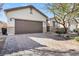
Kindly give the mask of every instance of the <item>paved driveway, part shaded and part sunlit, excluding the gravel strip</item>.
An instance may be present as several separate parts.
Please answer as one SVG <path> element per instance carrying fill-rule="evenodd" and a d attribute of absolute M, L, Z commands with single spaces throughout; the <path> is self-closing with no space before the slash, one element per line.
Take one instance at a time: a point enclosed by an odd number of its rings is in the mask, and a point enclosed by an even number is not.
<path fill-rule="evenodd" d="M 35 33 L 7 36 L 3 45 L 2 54 L 8 54 L 17 51 L 29 49 L 46 49 L 67 51 L 79 50 L 79 43 L 74 40 L 60 40 L 53 33 Z"/>

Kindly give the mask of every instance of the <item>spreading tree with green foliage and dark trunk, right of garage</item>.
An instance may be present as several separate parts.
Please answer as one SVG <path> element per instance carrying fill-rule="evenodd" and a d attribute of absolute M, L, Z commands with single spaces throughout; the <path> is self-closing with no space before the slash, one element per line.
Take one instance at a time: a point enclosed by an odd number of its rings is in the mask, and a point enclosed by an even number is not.
<path fill-rule="evenodd" d="M 53 13 L 56 22 L 61 24 L 65 33 L 67 33 L 67 28 L 70 26 L 70 22 L 72 19 L 76 20 L 77 15 L 79 15 L 79 4 L 55 3 L 47 5 L 50 12 Z"/>

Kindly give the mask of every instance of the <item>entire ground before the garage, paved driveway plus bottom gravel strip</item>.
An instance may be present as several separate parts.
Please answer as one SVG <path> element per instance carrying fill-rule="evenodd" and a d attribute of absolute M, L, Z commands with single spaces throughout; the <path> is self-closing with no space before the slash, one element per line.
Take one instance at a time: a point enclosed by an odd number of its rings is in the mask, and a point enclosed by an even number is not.
<path fill-rule="evenodd" d="M 64 40 L 55 33 L 7 36 L 0 55 L 79 55 L 79 42 L 76 40 Z"/>

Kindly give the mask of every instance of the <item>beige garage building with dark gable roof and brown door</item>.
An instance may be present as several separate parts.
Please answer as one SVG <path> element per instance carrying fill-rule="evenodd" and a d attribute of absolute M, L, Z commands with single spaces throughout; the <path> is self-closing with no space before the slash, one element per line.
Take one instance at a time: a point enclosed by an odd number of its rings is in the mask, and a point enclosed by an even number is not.
<path fill-rule="evenodd" d="M 47 32 L 48 17 L 32 5 L 4 11 L 8 18 L 8 35 Z"/>

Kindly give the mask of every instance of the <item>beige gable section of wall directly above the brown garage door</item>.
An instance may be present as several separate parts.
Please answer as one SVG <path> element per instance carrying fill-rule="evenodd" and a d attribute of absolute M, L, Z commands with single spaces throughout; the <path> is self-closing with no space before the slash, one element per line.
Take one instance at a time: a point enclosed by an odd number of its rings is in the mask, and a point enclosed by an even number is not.
<path fill-rule="evenodd" d="M 8 18 L 19 18 L 27 20 L 45 21 L 46 17 L 41 15 L 35 9 L 32 9 L 33 14 L 30 14 L 30 8 L 18 9 L 7 12 Z"/>

